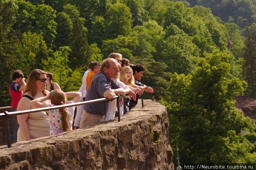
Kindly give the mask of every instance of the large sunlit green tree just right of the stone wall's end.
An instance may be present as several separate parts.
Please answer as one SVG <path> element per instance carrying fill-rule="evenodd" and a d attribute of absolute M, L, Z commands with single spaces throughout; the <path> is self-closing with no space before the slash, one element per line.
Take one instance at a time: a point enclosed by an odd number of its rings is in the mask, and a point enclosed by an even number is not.
<path fill-rule="evenodd" d="M 255 155 L 252 143 L 238 135 L 255 125 L 234 107 L 233 98 L 243 94 L 246 82 L 230 74 L 230 57 L 217 50 L 198 58 L 191 75 L 174 73 L 170 80 L 161 103 L 171 122 L 171 146 L 178 144 L 182 162 L 248 163 Z"/>

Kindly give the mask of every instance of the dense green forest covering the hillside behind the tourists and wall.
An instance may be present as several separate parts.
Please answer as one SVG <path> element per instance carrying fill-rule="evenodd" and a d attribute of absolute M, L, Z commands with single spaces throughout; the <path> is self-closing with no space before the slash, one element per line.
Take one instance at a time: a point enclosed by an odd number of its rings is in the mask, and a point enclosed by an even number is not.
<path fill-rule="evenodd" d="M 167 107 L 175 166 L 177 145 L 181 164 L 255 164 L 254 121 L 233 107 L 256 98 L 255 0 L 1 0 L 0 14 L 1 95 L 15 69 L 79 88 L 90 61 L 118 52 Z"/>

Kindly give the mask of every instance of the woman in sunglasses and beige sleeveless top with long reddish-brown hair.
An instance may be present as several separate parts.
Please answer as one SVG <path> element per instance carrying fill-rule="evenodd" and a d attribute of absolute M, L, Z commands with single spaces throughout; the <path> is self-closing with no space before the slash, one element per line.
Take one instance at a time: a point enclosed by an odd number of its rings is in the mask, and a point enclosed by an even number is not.
<path fill-rule="evenodd" d="M 30 101 L 48 95 L 48 91 L 45 90 L 46 83 L 46 73 L 40 69 L 34 69 L 27 79 L 27 85 L 18 103 L 17 111 L 35 109 L 30 105 Z M 46 100 L 44 104 L 48 105 L 50 101 Z M 49 117 L 45 112 L 20 114 L 17 116 L 17 120 L 19 124 L 18 142 L 50 135 Z"/>

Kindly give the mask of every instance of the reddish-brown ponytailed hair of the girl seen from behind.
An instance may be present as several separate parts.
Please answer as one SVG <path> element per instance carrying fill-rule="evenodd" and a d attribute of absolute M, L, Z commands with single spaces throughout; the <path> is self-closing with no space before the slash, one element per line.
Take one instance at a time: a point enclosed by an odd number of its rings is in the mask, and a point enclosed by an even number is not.
<path fill-rule="evenodd" d="M 65 105 L 66 104 L 66 95 L 60 89 L 54 89 L 50 93 L 50 101 L 53 105 Z M 61 113 L 61 125 L 65 131 L 71 131 L 69 126 L 68 114 L 70 114 L 66 108 L 60 108 Z"/>

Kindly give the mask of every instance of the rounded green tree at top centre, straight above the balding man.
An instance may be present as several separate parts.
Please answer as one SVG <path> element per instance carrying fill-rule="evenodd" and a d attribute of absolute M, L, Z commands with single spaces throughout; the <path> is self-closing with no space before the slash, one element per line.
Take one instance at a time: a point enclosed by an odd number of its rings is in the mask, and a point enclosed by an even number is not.
<path fill-rule="evenodd" d="M 132 31 L 132 14 L 130 9 L 121 3 L 115 3 L 106 12 L 106 23 L 110 37 L 126 36 Z"/>

